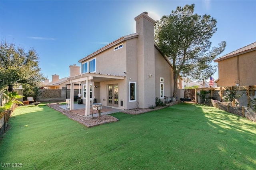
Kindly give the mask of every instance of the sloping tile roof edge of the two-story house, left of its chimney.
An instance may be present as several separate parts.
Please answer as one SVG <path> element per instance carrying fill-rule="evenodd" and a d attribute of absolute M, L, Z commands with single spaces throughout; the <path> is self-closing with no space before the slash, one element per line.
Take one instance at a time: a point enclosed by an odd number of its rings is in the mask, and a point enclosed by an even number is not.
<path fill-rule="evenodd" d="M 98 53 L 100 53 L 100 52 L 118 44 L 118 43 L 120 43 L 120 42 L 123 42 L 124 40 L 129 40 L 129 39 L 132 39 L 132 38 L 136 38 L 136 37 L 138 37 L 138 35 L 139 35 L 138 33 L 134 33 L 134 34 L 129 34 L 127 36 L 122 36 L 122 37 L 118 38 L 117 40 L 109 43 L 108 45 L 105 45 L 104 47 L 98 49 L 97 51 L 94 51 L 90 55 L 87 55 L 86 57 L 80 59 L 78 62 L 81 63 L 82 61 L 84 61 L 84 60 L 86 60 L 86 59 L 88 59 L 88 58 L 90 58 L 90 57 L 92 57 L 92 56 L 94 56 L 94 55 L 96 55 L 96 54 L 98 54 Z"/>

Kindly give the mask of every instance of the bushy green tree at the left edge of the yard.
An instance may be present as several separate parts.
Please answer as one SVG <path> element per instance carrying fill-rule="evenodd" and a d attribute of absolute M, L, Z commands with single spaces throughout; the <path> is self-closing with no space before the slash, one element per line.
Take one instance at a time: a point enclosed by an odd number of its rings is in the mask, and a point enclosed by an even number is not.
<path fill-rule="evenodd" d="M 12 91 L 13 86 L 38 87 L 45 77 L 40 73 L 39 57 L 35 49 L 25 52 L 14 43 L 0 44 L 0 91 Z"/>

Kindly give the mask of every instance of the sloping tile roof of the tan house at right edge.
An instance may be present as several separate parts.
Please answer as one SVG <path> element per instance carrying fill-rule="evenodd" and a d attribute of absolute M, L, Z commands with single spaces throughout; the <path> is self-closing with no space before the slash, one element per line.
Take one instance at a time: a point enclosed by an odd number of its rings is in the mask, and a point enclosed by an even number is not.
<path fill-rule="evenodd" d="M 219 57 L 217 59 L 214 60 L 214 62 L 218 62 L 218 61 L 221 61 L 223 59 L 228 59 L 228 58 L 231 58 L 231 57 L 234 57 L 234 56 L 237 56 L 237 55 L 241 55 L 243 53 L 248 53 L 250 51 L 254 51 L 256 50 L 256 42 L 254 43 L 251 43 L 249 45 L 246 45 L 240 49 L 237 49 L 235 51 L 232 51 L 231 53 L 228 53 L 226 55 L 223 55 L 222 57 Z"/>

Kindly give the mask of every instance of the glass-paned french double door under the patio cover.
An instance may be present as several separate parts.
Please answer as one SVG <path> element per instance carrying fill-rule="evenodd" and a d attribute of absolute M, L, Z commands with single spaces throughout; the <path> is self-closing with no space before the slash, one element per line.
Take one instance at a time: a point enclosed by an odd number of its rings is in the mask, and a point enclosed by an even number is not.
<path fill-rule="evenodd" d="M 108 106 L 118 107 L 118 84 L 108 85 Z"/>

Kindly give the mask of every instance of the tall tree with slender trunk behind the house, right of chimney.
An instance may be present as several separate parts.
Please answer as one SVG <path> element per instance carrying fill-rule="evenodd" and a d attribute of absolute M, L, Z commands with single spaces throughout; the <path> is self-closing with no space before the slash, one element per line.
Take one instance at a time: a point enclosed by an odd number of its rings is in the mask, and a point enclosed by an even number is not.
<path fill-rule="evenodd" d="M 193 13 L 194 4 L 177 7 L 155 24 L 155 42 L 173 65 L 174 97 L 179 75 L 194 80 L 209 78 L 216 72 L 212 61 L 226 47 L 226 42 L 221 42 L 210 49 L 217 21 L 210 15 Z"/>

